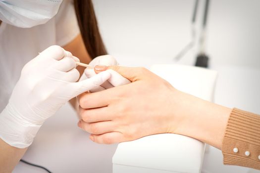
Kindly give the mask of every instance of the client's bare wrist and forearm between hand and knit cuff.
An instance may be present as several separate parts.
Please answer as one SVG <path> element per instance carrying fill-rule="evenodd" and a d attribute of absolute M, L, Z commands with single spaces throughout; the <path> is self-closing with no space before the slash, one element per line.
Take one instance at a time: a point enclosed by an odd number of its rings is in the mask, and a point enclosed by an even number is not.
<path fill-rule="evenodd" d="M 231 109 L 181 91 L 176 91 L 173 99 L 172 117 L 177 125 L 172 132 L 220 149 Z"/>

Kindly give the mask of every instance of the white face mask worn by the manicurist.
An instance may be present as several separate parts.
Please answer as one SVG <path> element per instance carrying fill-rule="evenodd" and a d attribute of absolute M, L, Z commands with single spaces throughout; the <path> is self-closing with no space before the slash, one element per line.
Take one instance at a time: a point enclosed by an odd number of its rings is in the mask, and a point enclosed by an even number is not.
<path fill-rule="evenodd" d="M 0 0 L 0 20 L 20 28 L 44 24 L 57 12 L 62 0 Z"/>

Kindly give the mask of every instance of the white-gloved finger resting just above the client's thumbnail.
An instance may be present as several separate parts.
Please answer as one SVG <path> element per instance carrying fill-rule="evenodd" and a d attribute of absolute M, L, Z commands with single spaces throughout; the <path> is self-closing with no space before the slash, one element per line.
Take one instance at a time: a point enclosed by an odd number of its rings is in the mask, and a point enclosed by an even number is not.
<path fill-rule="evenodd" d="M 116 59 L 111 56 L 111 55 L 102 55 L 94 58 L 89 65 L 92 67 L 95 67 L 96 65 L 106 65 L 106 66 L 111 66 L 111 65 L 118 65 Z"/>

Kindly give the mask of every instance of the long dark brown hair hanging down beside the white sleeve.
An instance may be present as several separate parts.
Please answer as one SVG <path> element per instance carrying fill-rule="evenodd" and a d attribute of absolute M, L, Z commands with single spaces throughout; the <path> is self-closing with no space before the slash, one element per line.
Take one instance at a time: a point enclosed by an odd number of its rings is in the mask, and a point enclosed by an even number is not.
<path fill-rule="evenodd" d="M 107 54 L 102 41 L 92 0 L 74 0 L 75 12 L 85 47 L 90 57 Z"/>

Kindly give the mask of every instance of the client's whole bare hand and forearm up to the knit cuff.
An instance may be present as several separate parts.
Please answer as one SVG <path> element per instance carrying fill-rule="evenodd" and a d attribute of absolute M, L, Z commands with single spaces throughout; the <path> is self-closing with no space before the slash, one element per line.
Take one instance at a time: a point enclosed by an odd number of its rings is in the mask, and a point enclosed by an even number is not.
<path fill-rule="evenodd" d="M 145 68 L 108 69 L 132 83 L 80 95 L 78 126 L 92 133 L 93 141 L 110 144 L 177 133 L 221 148 L 229 108 L 181 92 Z M 97 73 L 104 70 L 95 67 Z"/>

